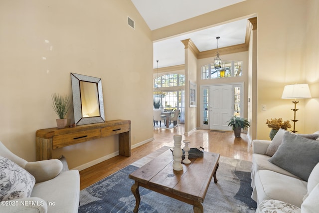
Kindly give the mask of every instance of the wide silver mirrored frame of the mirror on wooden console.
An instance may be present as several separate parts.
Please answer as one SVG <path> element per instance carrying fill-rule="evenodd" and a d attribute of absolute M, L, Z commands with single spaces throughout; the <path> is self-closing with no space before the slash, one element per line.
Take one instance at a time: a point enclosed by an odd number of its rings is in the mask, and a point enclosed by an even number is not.
<path fill-rule="evenodd" d="M 80 82 L 89 82 L 96 83 L 97 92 L 98 92 L 98 102 L 100 116 L 95 117 L 83 117 L 82 115 L 82 102 L 81 102 L 81 91 L 80 91 Z M 73 97 L 73 111 L 74 111 L 74 123 L 77 125 L 83 124 L 94 124 L 105 122 L 104 116 L 104 103 L 103 103 L 103 93 L 102 93 L 102 79 L 80 75 L 76 73 L 71 73 L 71 84 L 72 84 L 72 97 Z"/>

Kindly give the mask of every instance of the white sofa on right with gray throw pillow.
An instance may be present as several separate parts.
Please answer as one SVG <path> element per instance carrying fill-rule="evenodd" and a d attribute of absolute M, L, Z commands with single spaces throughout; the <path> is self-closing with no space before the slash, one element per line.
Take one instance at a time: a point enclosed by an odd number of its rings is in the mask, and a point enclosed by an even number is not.
<path fill-rule="evenodd" d="M 318 137 L 319 131 L 298 135 L 280 129 L 273 141 L 253 140 L 251 187 L 257 213 L 319 212 Z"/>

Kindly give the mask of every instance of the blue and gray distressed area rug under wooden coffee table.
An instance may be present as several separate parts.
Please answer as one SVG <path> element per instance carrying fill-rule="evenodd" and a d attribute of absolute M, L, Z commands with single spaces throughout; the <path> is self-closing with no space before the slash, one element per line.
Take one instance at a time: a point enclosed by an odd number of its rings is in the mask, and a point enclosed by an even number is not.
<path fill-rule="evenodd" d="M 152 158 L 155 156 L 153 154 Z M 139 168 L 136 165 L 140 163 L 129 165 L 81 190 L 79 213 L 132 213 L 135 197 L 131 192 L 131 186 L 134 181 L 129 179 L 129 174 Z M 250 168 L 251 162 L 220 157 L 216 173 L 218 183 L 215 184 L 212 179 L 202 204 L 204 212 L 255 213 L 256 203 L 250 197 Z M 189 204 L 142 187 L 140 195 L 139 213 L 193 212 L 193 207 Z"/>

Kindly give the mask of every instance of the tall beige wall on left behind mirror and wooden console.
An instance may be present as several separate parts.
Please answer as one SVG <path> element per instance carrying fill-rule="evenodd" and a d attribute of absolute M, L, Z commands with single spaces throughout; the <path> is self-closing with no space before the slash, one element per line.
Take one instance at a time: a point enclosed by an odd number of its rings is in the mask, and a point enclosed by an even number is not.
<path fill-rule="evenodd" d="M 56 126 L 51 94 L 71 95 L 71 72 L 102 78 L 106 120 L 131 120 L 133 146 L 152 139 L 152 53 L 151 30 L 131 0 L 0 1 L 0 141 L 34 161 L 35 131 Z M 117 139 L 54 157 L 78 167 L 116 153 Z"/>

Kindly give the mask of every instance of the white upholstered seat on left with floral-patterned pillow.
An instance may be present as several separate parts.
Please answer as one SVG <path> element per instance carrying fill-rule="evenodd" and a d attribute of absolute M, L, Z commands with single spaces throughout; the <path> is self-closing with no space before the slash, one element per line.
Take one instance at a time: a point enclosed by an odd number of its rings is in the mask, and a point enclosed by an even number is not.
<path fill-rule="evenodd" d="M 0 200 L 4 199 L 0 202 L 0 213 L 77 213 L 79 171 L 61 172 L 62 167 L 57 159 L 27 162 L 0 142 Z M 11 172 L 9 178 L 5 177 L 6 172 Z M 23 195 L 12 192 L 5 195 L 12 185 L 8 180 L 12 182 L 12 179 L 20 180 L 17 187 L 28 185 Z"/>

